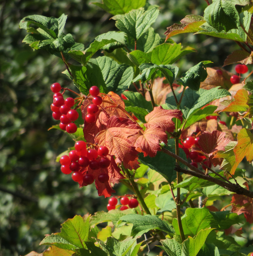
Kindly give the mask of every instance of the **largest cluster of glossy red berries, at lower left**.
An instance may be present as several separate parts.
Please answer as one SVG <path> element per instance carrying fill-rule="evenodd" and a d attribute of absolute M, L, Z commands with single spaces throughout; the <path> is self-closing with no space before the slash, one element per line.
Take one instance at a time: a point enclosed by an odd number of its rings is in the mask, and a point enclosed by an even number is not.
<path fill-rule="evenodd" d="M 107 168 L 110 166 L 110 159 L 106 156 L 109 150 L 105 146 L 100 146 L 98 150 L 88 148 L 84 141 L 77 141 L 75 143 L 75 150 L 69 152 L 69 155 L 63 155 L 60 158 L 61 171 L 64 174 L 71 174 L 75 182 L 83 182 L 85 185 L 94 182 L 94 176 L 91 173 L 82 174 L 82 171 L 89 167 L 92 170 L 99 168 Z M 109 175 L 102 172 L 98 175 L 98 181 L 105 183 L 109 180 Z"/>

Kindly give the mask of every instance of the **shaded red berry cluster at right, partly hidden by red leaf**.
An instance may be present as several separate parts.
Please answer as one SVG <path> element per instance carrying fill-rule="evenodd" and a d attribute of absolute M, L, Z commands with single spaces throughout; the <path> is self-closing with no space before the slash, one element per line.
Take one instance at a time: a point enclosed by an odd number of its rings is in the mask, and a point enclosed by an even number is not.
<path fill-rule="evenodd" d="M 206 170 L 205 166 L 208 165 L 208 161 L 205 160 L 206 157 L 196 151 L 190 151 L 193 145 L 195 145 L 196 147 L 199 147 L 198 140 L 199 140 L 199 137 L 194 138 L 193 136 L 188 136 L 183 141 L 183 145 L 179 144 L 179 147 L 182 148 L 182 150 L 185 152 L 186 157 L 191 159 L 192 166 L 198 168 L 198 163 L 202 162 L 203 163 L 202 168 Z M 209 167 L 211 167 L 211 163 L 209 163 Z"/>

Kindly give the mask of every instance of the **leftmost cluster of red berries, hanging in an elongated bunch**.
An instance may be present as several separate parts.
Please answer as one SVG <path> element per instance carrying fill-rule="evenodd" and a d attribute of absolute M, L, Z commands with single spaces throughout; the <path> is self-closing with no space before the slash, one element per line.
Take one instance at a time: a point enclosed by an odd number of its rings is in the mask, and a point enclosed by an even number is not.
<path fill-rule="evenodd" d="M 52 116 L 55 120 L 60 120 L 60 128 L 68 133 L 75 133 L 77 126 L 74 123 L 78 119 L 78 112 L 75 109 L 71 109 L 75 104 L 75 100 L 72 97 L 64 99 L 60 93 L 62 89 L 59 83 L 53 83 L 51 85 L 51 91 L 54 93 L 53 103 L 51 104 Z"/>

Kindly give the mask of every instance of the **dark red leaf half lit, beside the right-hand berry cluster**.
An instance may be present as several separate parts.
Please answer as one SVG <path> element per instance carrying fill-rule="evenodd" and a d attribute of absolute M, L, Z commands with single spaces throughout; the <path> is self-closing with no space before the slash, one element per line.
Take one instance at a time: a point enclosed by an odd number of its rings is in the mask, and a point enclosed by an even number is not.
<path fill-rule="evenodd" d="M 199 147 L 206 156 L 211 157 L 218 150 L 224 151 L 225 146 L 230 142 L 230 139 L 225 138 L 225 135 L 225 132 L 217 130 L 212 133 L 205 131 L 199 136 Z"/>

